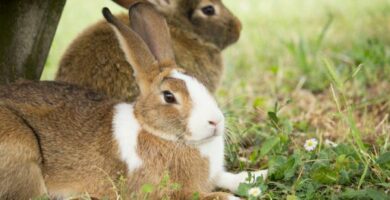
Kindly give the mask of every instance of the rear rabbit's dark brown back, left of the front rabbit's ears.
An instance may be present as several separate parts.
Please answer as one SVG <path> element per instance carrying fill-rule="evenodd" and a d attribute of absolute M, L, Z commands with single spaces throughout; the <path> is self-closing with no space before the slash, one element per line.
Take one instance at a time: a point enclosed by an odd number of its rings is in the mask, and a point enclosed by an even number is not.
<path fill-rule="evenodd" d="M 119 19 L 129 23 L 126 15 Z M 134 100 L 138 94 L 133 69 L 105 21 L 98 22 L 73 41 L 61 59 L 56 80 L 120 100 Z"/>

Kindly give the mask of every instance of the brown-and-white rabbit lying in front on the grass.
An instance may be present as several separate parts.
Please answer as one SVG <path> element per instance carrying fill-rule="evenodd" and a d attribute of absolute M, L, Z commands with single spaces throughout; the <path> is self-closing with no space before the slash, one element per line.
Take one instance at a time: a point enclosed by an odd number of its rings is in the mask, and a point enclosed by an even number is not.
<path fill-rule="evenodd" d="M 140 95 L 129 103 L 63 82 L 1 86 L 0 199 L 114 199 L 112 181 L 125 177 L 126 195 L 140 194 L 166 172 L 182 188 L 148 198 L 238 199 L 214 192 L 236 192 L 249 175 L 224 169 L 223 113 L 211 92 L 178 67 L 164 17 L 147 3 L 130 6 L 131 27 L 108 8 L 103 15 Z M 253 175 L 265 178 L 267 171 Z"/>

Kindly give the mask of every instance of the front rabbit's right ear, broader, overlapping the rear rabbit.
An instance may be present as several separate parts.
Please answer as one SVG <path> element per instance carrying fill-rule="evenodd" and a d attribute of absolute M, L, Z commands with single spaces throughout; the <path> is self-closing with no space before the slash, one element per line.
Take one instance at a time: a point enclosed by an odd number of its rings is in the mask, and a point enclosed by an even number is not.
<path fill-rule="evenodd" d="M 129 9 L 129 17 L 131 28 L 146 42 L 159 66 L 174 66 L 175 56 L 165 18 L 150 3 L 132 6 Z"/>

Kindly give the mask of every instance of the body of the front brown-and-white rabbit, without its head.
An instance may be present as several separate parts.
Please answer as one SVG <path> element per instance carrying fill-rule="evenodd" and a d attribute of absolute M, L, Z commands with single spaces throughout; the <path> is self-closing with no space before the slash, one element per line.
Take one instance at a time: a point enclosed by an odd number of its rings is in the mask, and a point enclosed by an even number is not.
<path fill-rule="evenodd" d="M 16 160 L 20 162 L 18 165 L 32 165 L 38 171 L 33 178 L 35 181 L 30 180 L 31 194 L 47 192 L 51 197 L 69 198 L 88 192 L 92 197 L 114 199 L 117 191 L 112 189 L 111 180 L 123 176 L 131 188 L 129 192 L 139 192 L 146 183 L 158 185 L 166 172 L 170 181 L 180 184 L 184 190 L 168 194 L 156 192 L 150 198 L 168 195 L 173 199 L 188 199 L 194 192 L 207 194 L 214 189 L 210 169 L 214 162 L 223 163 L 222 137 L 216 138 L 213 144 L 196 148 L 162 140 L 142 129 L 139 132 L 128 130 L 129 134 L 137 135 L 136 152 L 142 163 L 130 171 L 118 154 L 121 147 L 113 135 L 113 120 L 118 114 L 116 106 L 130 108 L 132 105 L 116 103 L 92 91 L 55 82 L 23 82 L 0 88 L 0 94 L 0 119 L 3 120 L 0 158 L 8 160 L 6 157 L 11 155 L 4 152 L 10 152 L 10 149 L 25 149 Z M 9 117 L 10 114 L 13 117 Z M 126 114 L 129 114 L 128 122 L 131 123 L 134 118 L 130 112 Z M 16 122 L 19 122 L 16 127 L 23 131 L 10 131 Z M 26 140 L 21 140 L 24 132 Z M 5 145 L 9 141 L 14 142 L 12 147 Z M 205 151 L 202 153 L 210 145 L 219 148 L 208 152 L 211 155 Z M 211 157 L 215 160 L 209 160 Z M 9 174 L 8 170 L 16 167 L 14 164 L 0 165 L 0 173 Z M 223 166 L 219 167 L 222 171 Z M 3 182 L 9 179 L 14 177 L 3 177 L 0 184 L 4 185 Z M 29 176 L 21 179 L 29 179 Z M 18 198 L 19 194 L 22 193 L 15 192 L 8 197 Z M 1 199 L 5 195 L 0 192 Z"/>

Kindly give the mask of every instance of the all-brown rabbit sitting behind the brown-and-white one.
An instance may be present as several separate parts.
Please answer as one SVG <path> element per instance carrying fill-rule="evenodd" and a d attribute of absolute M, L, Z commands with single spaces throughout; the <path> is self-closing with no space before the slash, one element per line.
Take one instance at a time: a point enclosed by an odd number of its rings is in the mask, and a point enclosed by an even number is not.
<path fill-rule="evenodd" d="M 128 8 L 136 1 L 114 0 Z M 223 73 L 221 51 L 236 42 L 240 21 L 221 0 L 144 0 L 168 21 L 176 63 L 214 92 Z M 117 16 L 129 24 L 127 15 Z M 132 67 L 114 32 L 100 21 L 76 38 L 62 57 L 56 80 L 133 101 L 139 94 Z"/>

